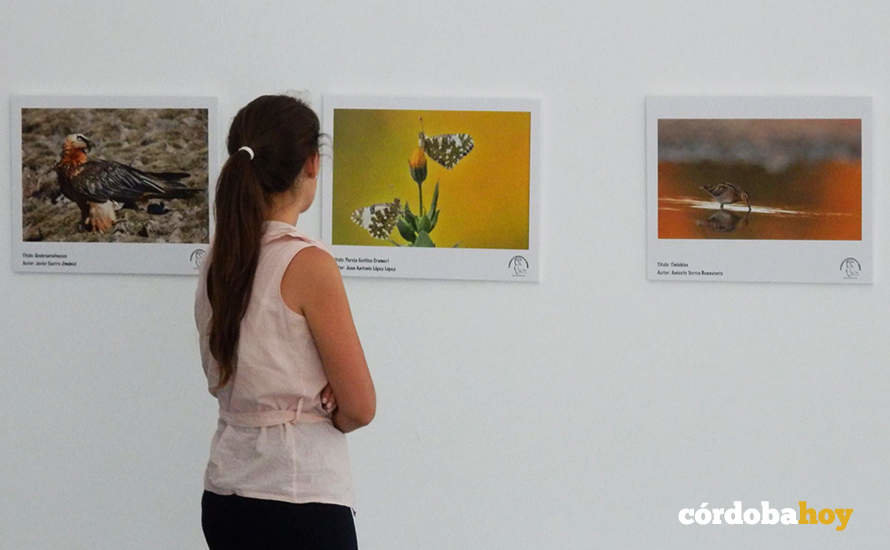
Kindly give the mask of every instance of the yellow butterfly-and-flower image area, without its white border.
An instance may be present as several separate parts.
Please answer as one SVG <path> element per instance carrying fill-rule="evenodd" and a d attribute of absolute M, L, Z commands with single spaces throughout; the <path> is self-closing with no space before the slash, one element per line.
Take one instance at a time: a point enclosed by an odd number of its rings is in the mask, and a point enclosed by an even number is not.
<path fill-rule="evenodd" d="M 529 131 L 522 112 L 337 109 L 333 244 L 527 248 Z"/>

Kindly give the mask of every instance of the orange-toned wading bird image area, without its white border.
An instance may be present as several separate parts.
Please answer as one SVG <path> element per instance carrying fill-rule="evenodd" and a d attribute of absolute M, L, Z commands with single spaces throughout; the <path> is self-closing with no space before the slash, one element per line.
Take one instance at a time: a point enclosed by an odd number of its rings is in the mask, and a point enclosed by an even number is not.
<path fill-rule="evenodd" d="M 862 121 L 659 119 L 658 238 L 860 240 Z"/>

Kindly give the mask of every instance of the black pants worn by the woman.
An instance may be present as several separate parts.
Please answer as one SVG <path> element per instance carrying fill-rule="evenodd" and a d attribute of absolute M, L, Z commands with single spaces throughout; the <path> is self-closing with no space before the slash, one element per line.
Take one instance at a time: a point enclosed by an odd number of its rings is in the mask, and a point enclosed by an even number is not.
<path fill-rule="evenodd" d="M 204 491 L 201 527 L 210 550 L 357 550 L 352 510 Z"/>

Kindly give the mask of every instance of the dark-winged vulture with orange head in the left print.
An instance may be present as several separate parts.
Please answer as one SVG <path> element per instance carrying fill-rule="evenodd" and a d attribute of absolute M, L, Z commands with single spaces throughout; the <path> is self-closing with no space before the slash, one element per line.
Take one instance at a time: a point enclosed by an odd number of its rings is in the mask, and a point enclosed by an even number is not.
<path fill-rule="evenodd" d="M 53 167 L 62 194 L 80 207 L 79 229 L 110 229 L 117 219 L 112 201 L 132 208 L 148 199 L 187 199 L 202 191 L 180 181 L 187 172 L 145 172 L 111 160 L 87 160 L 92 146 L 83 134 L 67 136 Z"/>

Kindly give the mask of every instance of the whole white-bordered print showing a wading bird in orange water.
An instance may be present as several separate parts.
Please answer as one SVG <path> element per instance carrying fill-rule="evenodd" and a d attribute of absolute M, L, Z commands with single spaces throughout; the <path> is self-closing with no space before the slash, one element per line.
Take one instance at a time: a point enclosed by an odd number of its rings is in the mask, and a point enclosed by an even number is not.
<path fill-rule="evenodd" d="M 871 283 L 872 104 L 649 97 L 652 280 Z"/>

